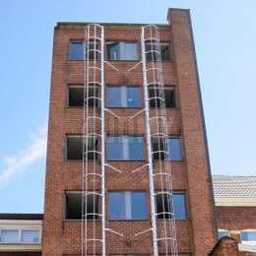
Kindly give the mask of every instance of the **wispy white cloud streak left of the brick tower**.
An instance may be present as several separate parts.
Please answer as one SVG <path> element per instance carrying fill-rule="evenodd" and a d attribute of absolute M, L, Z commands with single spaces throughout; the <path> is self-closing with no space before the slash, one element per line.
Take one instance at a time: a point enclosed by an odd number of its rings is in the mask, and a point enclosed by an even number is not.
<path fill-rule="evenodd" d="M 15 174 L 29 170 L 29 166 L 40 159 L 45 158 L 47 129 L 44 124 L 33 133 L 27 146 L 12 157 L 4 157 L 4 168 L 0 170 L 0 188 L 15 177 Z"/>

